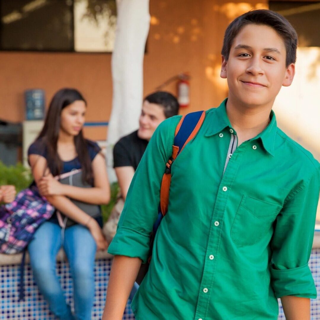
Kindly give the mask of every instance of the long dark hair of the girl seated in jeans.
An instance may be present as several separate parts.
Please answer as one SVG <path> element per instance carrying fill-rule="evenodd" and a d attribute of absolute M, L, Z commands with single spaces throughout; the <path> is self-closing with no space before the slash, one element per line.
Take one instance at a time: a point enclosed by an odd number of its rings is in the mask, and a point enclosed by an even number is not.
<path fill-rule="evenodd" d="M 41 144 L 41 147 L 44 148 L 47 154 L 46 158 L 48 167 L 53 176 L 56 176 L 62 172 L 63 165 L 57 152 L 61 111 L 76 100 L 84 101 L 84 103 L 87 104 L 84 100 L 84 97 L 76 89 L 60 89 L 53 96 L 50 102 L 47 116 L 44 121 L 44 126 L 36 139 L 36 141 Z M 88 144 L 91 144 L 91 142 L 84 139 L 82 130 L 74 137 L 74 142 L 83 172 L 83 181 L 92 184 L 93 173 L 88 153 Z"/>

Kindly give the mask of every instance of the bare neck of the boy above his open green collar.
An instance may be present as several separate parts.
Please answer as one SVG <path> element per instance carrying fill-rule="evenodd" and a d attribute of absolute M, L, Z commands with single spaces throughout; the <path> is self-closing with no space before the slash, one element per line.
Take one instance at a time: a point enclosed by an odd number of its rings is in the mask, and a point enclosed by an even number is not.
<path fill-rule="evenodd" d="M 226 110 L 232 127 L 237 132 L 238 146 L 262 132 L 270 122 L 272 104 L 246 106 L 228 97 Z"/>

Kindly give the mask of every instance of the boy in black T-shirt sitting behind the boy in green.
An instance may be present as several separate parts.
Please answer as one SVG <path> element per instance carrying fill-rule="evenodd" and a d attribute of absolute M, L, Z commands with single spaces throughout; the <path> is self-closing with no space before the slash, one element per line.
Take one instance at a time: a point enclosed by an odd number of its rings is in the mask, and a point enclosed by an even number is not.
<path fill-rule="evenodd" d="M 156 91 L 144 98 L 139 129 L 121 138 L 113 148 L 113 160 L 121 195 L 125 200 L 138 164 L 157 126 L 179 112 L 178 100 L 169 92 Z"/>

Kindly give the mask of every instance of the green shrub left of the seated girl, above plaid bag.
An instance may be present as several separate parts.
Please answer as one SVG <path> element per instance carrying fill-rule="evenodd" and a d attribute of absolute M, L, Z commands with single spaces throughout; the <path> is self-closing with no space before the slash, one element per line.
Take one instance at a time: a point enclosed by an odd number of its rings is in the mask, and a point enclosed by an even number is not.
<path fill-rule="evenodd" d="M 6 166 L 0 161 L 0 185 L 14 185 L 17 192 L 19 192 L 28 188 L 32 180 L 30 169 L 27 169 L 22 164 Z"/>

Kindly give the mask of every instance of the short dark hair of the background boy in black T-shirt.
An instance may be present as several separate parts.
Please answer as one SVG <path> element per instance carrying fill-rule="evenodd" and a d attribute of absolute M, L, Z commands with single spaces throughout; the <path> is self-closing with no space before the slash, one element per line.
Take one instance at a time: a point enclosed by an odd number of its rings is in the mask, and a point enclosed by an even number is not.
<path fill-rule="evenodd" d="M 166 91 L 156 91 L 144 98 L 143 101 L 155 103 L 163 107 L 164 116 L 170 118 L 176 116 L 179 112 L 179 103 L 177 98 Z"/>

